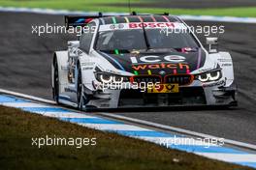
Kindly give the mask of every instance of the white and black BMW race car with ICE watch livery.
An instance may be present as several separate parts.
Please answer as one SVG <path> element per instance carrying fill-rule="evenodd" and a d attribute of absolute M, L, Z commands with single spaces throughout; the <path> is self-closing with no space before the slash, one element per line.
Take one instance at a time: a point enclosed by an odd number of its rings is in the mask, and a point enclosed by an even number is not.
<path fill-rule="evenodd" d="M 52 92 L 80 110 L 237 105 L 229 52 L 208 51 L 180 18 L 169 14 L 65 16 L 86 28 L 55 51 Z"/>

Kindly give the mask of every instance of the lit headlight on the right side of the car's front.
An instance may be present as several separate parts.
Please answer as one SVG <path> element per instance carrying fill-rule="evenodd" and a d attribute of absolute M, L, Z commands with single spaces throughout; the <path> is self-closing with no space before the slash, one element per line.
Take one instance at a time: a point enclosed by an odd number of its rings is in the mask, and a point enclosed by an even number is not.
<path fill-rule="evenodd" d="M 208 71 L 205 73 L 198 74 L 196 77 L 202 82 L 209 82 L 209 81 L 216 81 L 221 78 L 221 71 L 216 70 L 216 71 Z"/>

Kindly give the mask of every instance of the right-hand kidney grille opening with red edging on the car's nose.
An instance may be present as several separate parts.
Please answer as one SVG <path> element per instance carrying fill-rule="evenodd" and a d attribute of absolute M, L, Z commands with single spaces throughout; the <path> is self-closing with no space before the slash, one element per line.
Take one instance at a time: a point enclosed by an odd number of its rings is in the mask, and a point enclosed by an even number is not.
<path fill-rule="evenodd" d="M 188 85 L 193 81 L 193 75 L 182 74 L 182 75 L 167 75 L 165 77 L 165 83 L 173 83 L 178 85 Z"/>

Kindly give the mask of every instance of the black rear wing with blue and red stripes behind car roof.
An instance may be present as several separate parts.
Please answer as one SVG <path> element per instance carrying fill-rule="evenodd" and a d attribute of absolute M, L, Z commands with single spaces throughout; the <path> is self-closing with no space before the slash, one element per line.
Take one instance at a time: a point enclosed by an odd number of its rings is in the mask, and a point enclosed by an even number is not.
<path fill-rule="evenodd" d="M 136 14 L 136 12 L 132 12 L 131 14 L 126 14 L 126 16 L 127 15 L 137 15 L 137 14 Z M 144 14 L 141 14 L 141 15 L 144 15 Z M 164 14 L 159 14 L 159 15 L 169 15 L 169 14 L 164 13 Z M 95 15 L 82 15 L 82 16 L 65 15 L 65 26 L 66 26 L 67 30 L 70 27 L 77 27 L 77 26 L 83 27 L 86 24 L 88 24 L 92 19 L 100 18 L 103 16 L 113 16 L 113 15 L 103 15 L 102 13 L 95 14 Z M 119 16 L 124 16 L 124 15 L 119 15 Z"/>

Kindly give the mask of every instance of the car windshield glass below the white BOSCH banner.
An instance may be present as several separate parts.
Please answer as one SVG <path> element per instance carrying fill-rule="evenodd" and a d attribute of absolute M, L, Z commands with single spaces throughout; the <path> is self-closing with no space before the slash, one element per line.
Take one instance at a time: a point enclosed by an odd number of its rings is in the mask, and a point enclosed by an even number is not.
<path fill-rule="evenodd" d="M 96 49 L 104 51 L 146 49 L 144 36 L 150 49 L 199 47 L 198 42 L 189 32 L 174 32 L 167 35 L 163 34 L 161 29 L 126 29 L 99 32 Z"/>

